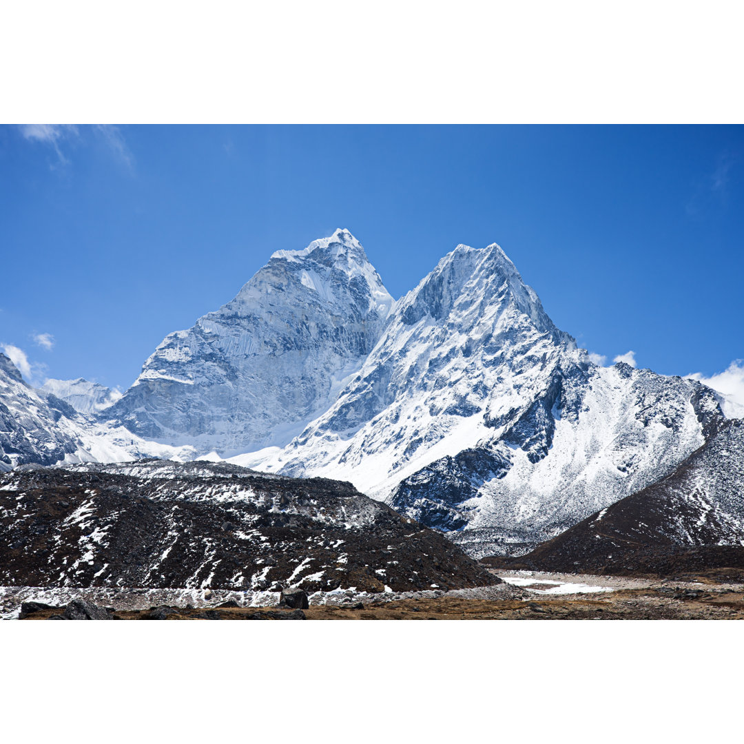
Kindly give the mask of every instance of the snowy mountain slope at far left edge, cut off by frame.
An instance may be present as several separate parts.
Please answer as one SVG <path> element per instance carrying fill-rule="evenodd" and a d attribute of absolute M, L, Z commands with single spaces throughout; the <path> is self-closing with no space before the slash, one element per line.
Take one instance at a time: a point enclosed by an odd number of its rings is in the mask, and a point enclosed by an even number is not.
<path fill-rule="evenodd" d="M 193 459 L 190 447 L 141 439 L 123 426 L 100 423 L 65 401 L 28 385 L 0 353 L 0 471 L 36 463 L 120 462 L 132 458 Z"/>

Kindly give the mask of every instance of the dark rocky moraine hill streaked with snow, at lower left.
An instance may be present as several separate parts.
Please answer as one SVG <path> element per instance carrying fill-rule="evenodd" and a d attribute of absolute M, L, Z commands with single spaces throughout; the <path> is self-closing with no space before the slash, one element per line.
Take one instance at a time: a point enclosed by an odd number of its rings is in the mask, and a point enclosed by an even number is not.
<path fill-rule="evenodd" d="M 350 484 L 140 461 L 0 475 L 0 585 L 307 592 L 498 583 Z"/>

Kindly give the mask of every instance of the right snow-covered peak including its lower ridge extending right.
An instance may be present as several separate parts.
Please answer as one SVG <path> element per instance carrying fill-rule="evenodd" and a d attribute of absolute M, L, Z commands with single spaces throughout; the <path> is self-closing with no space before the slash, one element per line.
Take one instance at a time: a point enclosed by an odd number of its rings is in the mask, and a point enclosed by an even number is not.
<path fill-rule="evenodd" d="M 592 364 L 501 248 L 458 246 L 324 414 L 234 462 L 351 481 L 475 554 L 525 551 L 670 472 L 721 419 L 699 382 Z"/>

